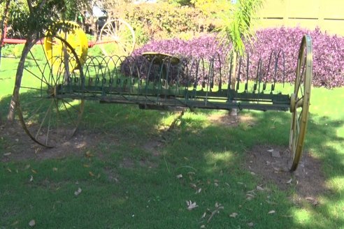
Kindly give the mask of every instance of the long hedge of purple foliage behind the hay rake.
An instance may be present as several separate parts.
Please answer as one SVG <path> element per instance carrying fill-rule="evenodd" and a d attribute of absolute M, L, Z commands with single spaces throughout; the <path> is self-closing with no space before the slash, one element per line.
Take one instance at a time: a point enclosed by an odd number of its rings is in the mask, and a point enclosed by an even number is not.
<path fill-rule="evenodd" d="M 257 66 L 259 59 L 261 59 L 261 80 L 263 82 L 273 82 L 274 80 L 277 82 L 294 82 L 299 45 L 303 34 L 309 34 L 313 39 L 313 85 L 327 88 L 343 87 L 344 38 L 324 34 L 319 29 L 308 31 L 300 28 L 287 29 L 282 27 L 257 31 L 257 38 L 252 43 L 245 45 L 250 62 L 249 78 L 251 80 L 256 79 Z M 218 73 L 221 69 L 223 78 L 223 75 L 228 75 L 229 72 L 229 64 L 226 61 L 228 62 L 229 59 L 227 57 L 230 47 L 225 47 L 218 40 L 215 36 L 207 35 L 192 40 L 152 41 L 136 49 L 131 54 L 131 58 L 137 62 L 142 62 L 141 53 L 162 52 L 184 59 L 185 64 L 189 64 L 187 60 L 192 58 L 201 58 L 203 61 L 215 59 L 215 72 Z M 280 50 L 282 51 L 280 52 Z M 274 77 L 274 63 L 279 52 L 277 74 Z M 270 57 L 272 58 L 269 66 Z M 247 58 L 244 57 L 242 60 L 241 80 L 246 79 Z M 240 61 L 238 61 L 239 63 Z M 237 73 L 238 71 L 239 68 L 237 67 Z M 215 74 L 215 83 L 220 81 L 219 77 L 220 74 Z"/>

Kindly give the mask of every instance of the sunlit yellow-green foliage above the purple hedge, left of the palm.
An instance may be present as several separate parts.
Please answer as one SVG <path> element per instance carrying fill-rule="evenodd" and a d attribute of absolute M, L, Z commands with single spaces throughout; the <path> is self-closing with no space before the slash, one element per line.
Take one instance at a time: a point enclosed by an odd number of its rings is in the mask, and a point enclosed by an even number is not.
<path fill-rule="evenodd" d="M 125 4 L 110 10 L 113 10 L 114 15 L 124 18 L 131 24 L 139 44 L 146 43 L 150 39 L 190 38 L 195 33 L 210 31 L 215 27 L 200 10 L 188 6 L 141 3 Z"/>

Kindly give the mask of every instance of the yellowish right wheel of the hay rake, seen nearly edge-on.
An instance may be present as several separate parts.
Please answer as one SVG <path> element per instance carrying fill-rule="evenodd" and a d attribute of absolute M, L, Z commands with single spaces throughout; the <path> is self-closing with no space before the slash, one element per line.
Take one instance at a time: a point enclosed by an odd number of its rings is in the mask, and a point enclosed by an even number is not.
<path fill-rule="evenodd" d="M 294 93 L 291 95 L 290 111 L 292 123 L 290 127 L 289 160 L 290 171 L 296 170 L 301 159 L 305 140 L 310 105 L 310 87 L 313 78 L 313 47 L 310 36 L 303 36 L 296 66 Z"/>

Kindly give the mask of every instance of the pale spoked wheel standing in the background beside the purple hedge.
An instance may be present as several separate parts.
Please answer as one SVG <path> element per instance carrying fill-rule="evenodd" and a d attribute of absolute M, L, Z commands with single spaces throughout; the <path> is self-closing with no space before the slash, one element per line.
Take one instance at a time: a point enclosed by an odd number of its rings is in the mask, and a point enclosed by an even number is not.
<path fill-rule="evenodd" d="M 135 47 L 135 32 L 124 20 L 109 20 L 101 28 L 99 40 L 104 55 L 129 56 Z"/>

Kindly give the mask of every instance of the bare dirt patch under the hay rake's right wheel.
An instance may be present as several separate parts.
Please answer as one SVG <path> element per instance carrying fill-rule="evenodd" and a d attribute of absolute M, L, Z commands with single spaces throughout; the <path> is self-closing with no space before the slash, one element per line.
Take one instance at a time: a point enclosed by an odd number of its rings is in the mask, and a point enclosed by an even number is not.
<path fill-rule="evenodd" d="M 256 146 L 248 152 L 246 166 L 265 183 L 276 184 L 281 190 L 295 189 L 294 202 L 306 200 L 318 205 L 317 198 L 329 191 L 320 161 L 304 152 L 299 167 L 289 172 L 289 154 L 289 149 L 280 146 Z"/>

